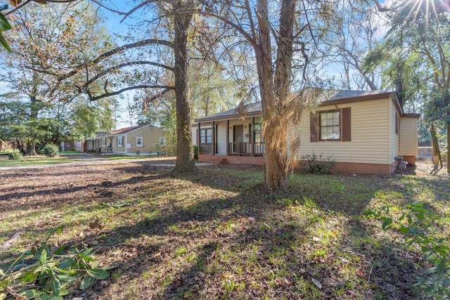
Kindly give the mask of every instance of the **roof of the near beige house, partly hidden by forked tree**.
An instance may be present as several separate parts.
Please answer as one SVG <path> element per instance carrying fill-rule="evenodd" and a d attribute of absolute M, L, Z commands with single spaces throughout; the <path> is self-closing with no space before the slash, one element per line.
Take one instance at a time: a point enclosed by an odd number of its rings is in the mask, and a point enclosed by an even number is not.
<path fill-rule="evenodd" d="M 356 102 L 364 100 L 374 100 L 389 97 L 392 91 L 335 91 L 335 90 L 322 90 L 317 97 L 317 101 L 328 104 L 338 104 L 345 102 Z M 333 102 L 331 102 L 333 101 Z M 330 103 L 328 103 L 330 102 Z M 243 113 L 242 113 L 243 112 Z M 243 107 L 236 107 L 232 110 L 226 110 L 225 112 L 219 112 L 215 115 L 195 119 L 195 122 L 208 122 L 218 119 L 234 119 L 239 118 L 242 115 L 246 117 L 252 117 L 262 114 L 261 103 L 250 103 Z"/>

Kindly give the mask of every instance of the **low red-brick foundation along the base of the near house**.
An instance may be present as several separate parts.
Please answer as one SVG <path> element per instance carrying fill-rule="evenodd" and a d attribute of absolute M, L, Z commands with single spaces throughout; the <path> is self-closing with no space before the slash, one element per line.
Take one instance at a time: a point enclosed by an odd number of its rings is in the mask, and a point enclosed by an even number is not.
<path fill-rule="evenodd" d="M 406 159 L 405 159 L 406 160 Z M 230 155 L 199 155 L 198 162 L 215 164 L 256 164 L 264 165 L 264 157 L 245 157 Z M 409 164 L 411 164 L 409 162 Z M 301 169 L 299 166 L 298 169 Z M 392 174 L 397 169 L 397 162 L 392 164 L 371 164 L 361 162 L 335 162 L 333 173 L 344 174 Z"/>

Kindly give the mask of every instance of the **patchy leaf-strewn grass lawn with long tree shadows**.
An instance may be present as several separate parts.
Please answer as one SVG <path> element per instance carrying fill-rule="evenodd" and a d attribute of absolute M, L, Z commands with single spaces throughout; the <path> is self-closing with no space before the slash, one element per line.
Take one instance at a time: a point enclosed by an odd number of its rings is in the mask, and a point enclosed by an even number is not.
<path fill-rule="evenodd" d="M 84 299 L 420 299 L 417 249 L 363 214 L 425 202 L 448 233 L 449 177 L 416 173 L 297 174 L 268 192 L 255 167 L 0 171 L 0 266 L 60 228 L 51 242 L 117 266 Z"/>

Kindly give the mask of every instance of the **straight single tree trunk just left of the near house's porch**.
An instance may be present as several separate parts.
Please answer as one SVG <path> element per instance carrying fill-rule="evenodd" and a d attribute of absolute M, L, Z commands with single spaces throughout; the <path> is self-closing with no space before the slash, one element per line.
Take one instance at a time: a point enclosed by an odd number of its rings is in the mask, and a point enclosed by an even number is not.
<path fill-rule="evenodd" d="M 188 91 L 188 28 L 191 13 L 176 13 L 191 8 L 191 0 L 174 1 L 175 30 L 175 97 L 176 97 L 176 164 L 174 171 L 195 171 L 191 133 L 191 98 Z"/>

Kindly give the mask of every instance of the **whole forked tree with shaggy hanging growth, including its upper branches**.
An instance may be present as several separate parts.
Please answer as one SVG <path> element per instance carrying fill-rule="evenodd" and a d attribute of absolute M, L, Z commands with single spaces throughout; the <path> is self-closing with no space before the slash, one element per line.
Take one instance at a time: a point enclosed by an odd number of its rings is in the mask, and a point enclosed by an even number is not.
<path fill-rule="evenodd" d="M 327 18 L 331 11 L 326 2 L 307 0 L 257 0 L 253 4 L 226 1 L 221 6 L 206 6 L 204 13 L 224 22 L 253 48 L 264 120 L 265 184 L 269 189 L 283 189 L 289 186 L 289 171 L 299 159 L 298 139 L 288 139 L 286 128 L 300 121 L 310 100 L 303 93 L 309 84 L 311 52 L 307 49 L 314 46 L 309 18 L 319 18 L 319 14 Z"/>

